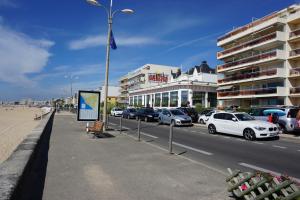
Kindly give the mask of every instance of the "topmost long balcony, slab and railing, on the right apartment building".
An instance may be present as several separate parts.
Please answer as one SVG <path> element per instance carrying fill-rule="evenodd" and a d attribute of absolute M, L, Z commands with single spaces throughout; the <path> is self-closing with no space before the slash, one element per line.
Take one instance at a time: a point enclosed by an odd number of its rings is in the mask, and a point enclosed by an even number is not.
<path fill-rule="evenodd" d="M 261 19 L 258 19 L 252 23 L 249 23 L 245 26 L 234 29 L 233 31 L 225 34 L 218 38 L 218 46 L 223 46 L 229 42 L 232 42 L 236 39 L 244 37 L 248 34 L 260 31 L 267 27 L 273 26 L 275 24 L 285 24 L 285 19 L 280 17 L 277 12 L 271 13 L 268 16 L 265 16 Z"/>

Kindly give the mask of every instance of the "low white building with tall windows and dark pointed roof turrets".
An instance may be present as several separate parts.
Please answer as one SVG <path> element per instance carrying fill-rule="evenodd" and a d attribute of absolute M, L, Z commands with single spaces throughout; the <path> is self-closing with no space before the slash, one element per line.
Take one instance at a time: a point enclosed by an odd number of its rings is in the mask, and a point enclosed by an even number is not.
<path fill-rule="evenodd" d="M 216 107 L 217 75 L 204 61 L 187 73 L 172 71 L 169 82 L 129 91 L 130 106 L 176 108 L 181 106 Z"/>

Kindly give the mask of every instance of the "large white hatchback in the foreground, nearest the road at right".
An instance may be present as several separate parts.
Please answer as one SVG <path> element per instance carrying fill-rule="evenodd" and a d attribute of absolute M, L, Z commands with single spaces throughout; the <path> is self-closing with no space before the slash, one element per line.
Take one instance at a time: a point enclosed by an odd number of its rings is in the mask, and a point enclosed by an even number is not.
<path fill-rule="evenodd" d="M 277 137 L 279 129 L 275 124 L 255 120 L 247 113 L 214 113 L 207 121 L 208 132 L 244 136 L 246 140 Z"/>

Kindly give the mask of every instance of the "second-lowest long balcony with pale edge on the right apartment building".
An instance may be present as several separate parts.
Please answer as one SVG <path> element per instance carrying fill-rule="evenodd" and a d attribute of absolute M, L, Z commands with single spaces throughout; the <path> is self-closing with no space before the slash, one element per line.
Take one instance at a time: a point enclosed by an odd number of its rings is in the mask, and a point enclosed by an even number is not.
<path fill-rule="evenodd" d="M 261 70 L 252 73 L 245 73 L 245 74 L 237 74 L 233 76 L 227 76 L 224 79 L 218 80 L 219 85 L 226 85 L 226 84 L 235 84 L 235 83 L 242 83 L 242 82 L 251 82 L 251 81 L 258 81 L 263 79 L 270 79 L 275 77 L 285 77 L 284 69 L 277 68 L 277 69 L 270 69 L 270 70 Z"/>

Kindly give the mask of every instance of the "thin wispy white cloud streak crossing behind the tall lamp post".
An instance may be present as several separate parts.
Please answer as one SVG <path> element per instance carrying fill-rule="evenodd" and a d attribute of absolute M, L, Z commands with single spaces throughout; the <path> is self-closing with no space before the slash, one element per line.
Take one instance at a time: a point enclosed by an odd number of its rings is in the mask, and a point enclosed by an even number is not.
<path fill-rule="evenodd" d="M 120 46 L 136 46 L 136 45 L 157 45 L 164 42 L 159 39 L 150 37 L 117 37 L 115 38 L 117 45 Z M 80 50 L 97 46 L 104 46 L 107 43 L 107 36 L 97 35 L 88 36 L 79 40 L 73 40 L 69 43 L 71 50 Z"/>

